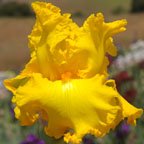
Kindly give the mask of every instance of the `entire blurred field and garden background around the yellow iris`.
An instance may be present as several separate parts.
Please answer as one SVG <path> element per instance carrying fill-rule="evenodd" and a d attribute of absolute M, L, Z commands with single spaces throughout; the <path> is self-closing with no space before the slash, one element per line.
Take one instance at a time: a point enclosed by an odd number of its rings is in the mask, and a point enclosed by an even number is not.
<path fill-rule="evenodd" d="M 35 22 L 31 2 L 0 0 L 0 144 L 63 143 L 47 138 L 41 122 L 20 127 L 14 118 L 11 93 L 3 86 L 5 78 L 14 77 L 30 58 L 28 34 Z M 144 107 L 144 0 L 45 0 L 72 14 L 78 25 L 91 14 L 102 12 L 107 22 L 127 19 L 127 30 L 114 37 L 118 56 L 109 56 L 110 77 L 116 80 L 123 97 L 137 107 Z M 87 135 L 84 144 L 144 144 L 144 118 L 136 127 L 125 121 L 102 139 Z"/>

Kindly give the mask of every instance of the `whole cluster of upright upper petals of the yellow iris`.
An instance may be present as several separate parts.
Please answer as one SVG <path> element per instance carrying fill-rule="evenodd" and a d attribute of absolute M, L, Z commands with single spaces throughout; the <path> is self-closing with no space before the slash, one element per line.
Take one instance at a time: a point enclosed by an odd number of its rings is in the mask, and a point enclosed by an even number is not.
<path fill-rule="evenodd" d="M 125 20 L 105 23 L 98 13 L 78 27 L 70 14 L 62 15 L 50 3 L 36 2 L 32 6 L 36 24 L 29 35 L 29 47 L 45 77 L 57 80 L 71 72 L 73 78 L 90 78 L 107 73 L 106 53 L 116 55 L 112 36 L 125 30 Z"/>

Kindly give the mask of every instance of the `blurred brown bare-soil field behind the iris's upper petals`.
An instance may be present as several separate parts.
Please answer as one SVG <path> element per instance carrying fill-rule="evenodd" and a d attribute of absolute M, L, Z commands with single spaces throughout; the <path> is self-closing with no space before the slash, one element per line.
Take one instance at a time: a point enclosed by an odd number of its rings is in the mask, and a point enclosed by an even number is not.
<path fill-rule="evenodd" d="M 115 36 L 115 43 L 123 47 L 135 39 L 144 39 L 144 13 L 108 15 L 107 21 L 126 18 L 127 30 Z M 74 20 L 81 25 L 84 18 Z M 0 71 L 19 70 L 29 60 L 27 36 L 32 30 L 34 18 L 0 18 Z"/>

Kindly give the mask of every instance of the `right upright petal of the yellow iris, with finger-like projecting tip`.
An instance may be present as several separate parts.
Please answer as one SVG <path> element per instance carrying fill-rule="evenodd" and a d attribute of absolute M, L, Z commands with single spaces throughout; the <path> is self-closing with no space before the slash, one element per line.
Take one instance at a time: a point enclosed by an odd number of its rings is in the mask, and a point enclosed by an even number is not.
<path fill-rule="evenodd" d="M 116 47 L 113 44 L 112 36 L 124 31 L 126 24 L 126 20 L 105 23 L 102 13 L 92 14 L 84 22 L 83 29 L 95 47 L 95 53 L 91 55 L 92 65 L 89 68 L 93 75 L 107 72 L 109 62 L 106 53 L 112 56 L 116 55 Z"/>

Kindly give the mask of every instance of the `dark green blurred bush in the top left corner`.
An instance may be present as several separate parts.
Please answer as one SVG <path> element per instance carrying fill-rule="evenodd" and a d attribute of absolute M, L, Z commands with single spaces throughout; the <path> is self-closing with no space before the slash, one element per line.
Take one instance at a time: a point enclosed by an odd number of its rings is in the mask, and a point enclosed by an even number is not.
<path fill-rule="evenodd" d="M 0 16 L 32 16 L 31 8 L 26 3 L 8 2 L 0 5 Z"/>

